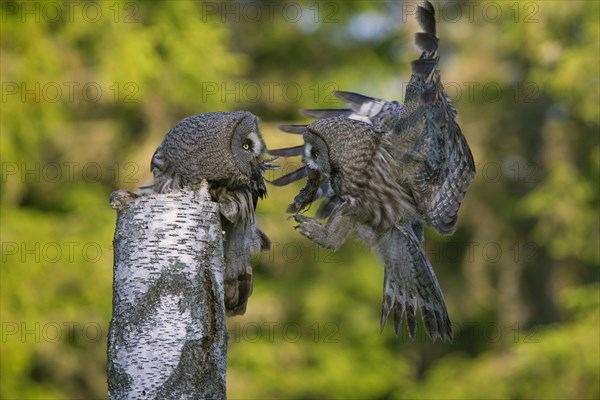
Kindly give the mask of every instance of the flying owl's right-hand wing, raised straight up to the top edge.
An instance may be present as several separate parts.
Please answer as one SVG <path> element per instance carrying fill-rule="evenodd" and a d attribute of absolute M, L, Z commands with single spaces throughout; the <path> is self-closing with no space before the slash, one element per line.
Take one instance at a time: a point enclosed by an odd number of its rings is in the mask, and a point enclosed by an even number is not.
<path fill-rule="evenodd" d="M 392 135 L 394 158 L 410 171 L 407 184 L 426 217 L 440 233 L 450 233 L 458 209 L 475 178 L 475 163 L 456 121 L 456 109 L 441 83 L 434 11 L 426 1 L 417 9 L 423 29 L 415 43 L 423 51 L 411 63 L 404 107 Z"/>

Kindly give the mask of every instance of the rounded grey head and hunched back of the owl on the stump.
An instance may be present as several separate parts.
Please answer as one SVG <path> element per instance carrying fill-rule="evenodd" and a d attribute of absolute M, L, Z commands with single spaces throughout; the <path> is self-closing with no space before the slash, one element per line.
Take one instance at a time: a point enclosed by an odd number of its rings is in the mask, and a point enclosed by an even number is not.
<path fill-rule="evenodd" d="M 232 190 L 247 185 L 264 190 L 265 152 L 258 118 L 252 113 L 193 115 L 177 123 L 154 153 L 154 182 L 150 186 L 163 192 L 206 179 L 211 186 Z"/>

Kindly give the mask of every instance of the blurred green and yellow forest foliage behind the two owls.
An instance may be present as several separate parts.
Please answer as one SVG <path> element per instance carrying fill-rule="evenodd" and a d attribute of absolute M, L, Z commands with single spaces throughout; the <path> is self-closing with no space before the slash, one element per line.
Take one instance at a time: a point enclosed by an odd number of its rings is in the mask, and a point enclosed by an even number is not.
<path fill-rule="evenodd" d="M 457 232 L 426 232 L 454 343 L 380 334 L 370 249 L 316 248 L 286 221 L 299 185 L 272 188 L 231 398 L 600 397 L 599 4 L 435 5 L 478 167 Z M 299 108 L 342 106 L 334 89 L 401 100 L 414 7 L 1 3 L 0 397 L 106 396 L 108 196 L 150 178 L 172 125 L 246 109 L 277 148 L 299 143 L 276 130 Z"/>

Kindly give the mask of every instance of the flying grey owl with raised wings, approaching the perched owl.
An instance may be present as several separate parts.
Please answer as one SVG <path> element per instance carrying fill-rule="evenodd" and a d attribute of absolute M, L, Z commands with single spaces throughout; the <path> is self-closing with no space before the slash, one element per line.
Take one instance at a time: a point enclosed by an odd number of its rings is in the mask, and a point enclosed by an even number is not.
<path fill-rule="evenodd" d="M 337 249 L 355 233 L 379 253 L 385 265 L 381 330 L 392 312 L 396 336 L 405 316 L 414 338 L 420 309 L 432 340 L 450 341 L 444 297 L 421 246 L 423 227 L 452 232 L 475 165 L 440 80 L 431 3 L 418 7 L 417 19 L 422 54 L 411 64 L 404 104 L 336 92 L 351 109 L 305 110 L 320 119 L 281 127 L 302 134 L 304 144 L 271 151 L 302 155 L 304 166 L 273 183 L 308 178 L 288 208 L 302 235 Z M 298 214 L 318 199 L 316 217 L 328 217 L 324 225 Z"/>

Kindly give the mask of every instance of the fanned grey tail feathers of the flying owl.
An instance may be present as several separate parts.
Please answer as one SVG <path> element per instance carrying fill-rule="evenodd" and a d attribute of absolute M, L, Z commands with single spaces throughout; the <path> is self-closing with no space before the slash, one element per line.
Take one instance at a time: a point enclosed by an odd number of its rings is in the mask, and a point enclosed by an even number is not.
<path fill-rule="evenodd" d="M 417 309 L 421 310 L 423 325 L 433 341 L 452 341 L 452 327 L 442 290 L 433 268 L 425 256 L 415 230 L 423 227 L 396 225 L 376 242 L 384 262 L 383 305 L 381 330 L 393 311 L 394 333 L 398 336 L 402 319 L 411 338 L 417 329 Z"/>

